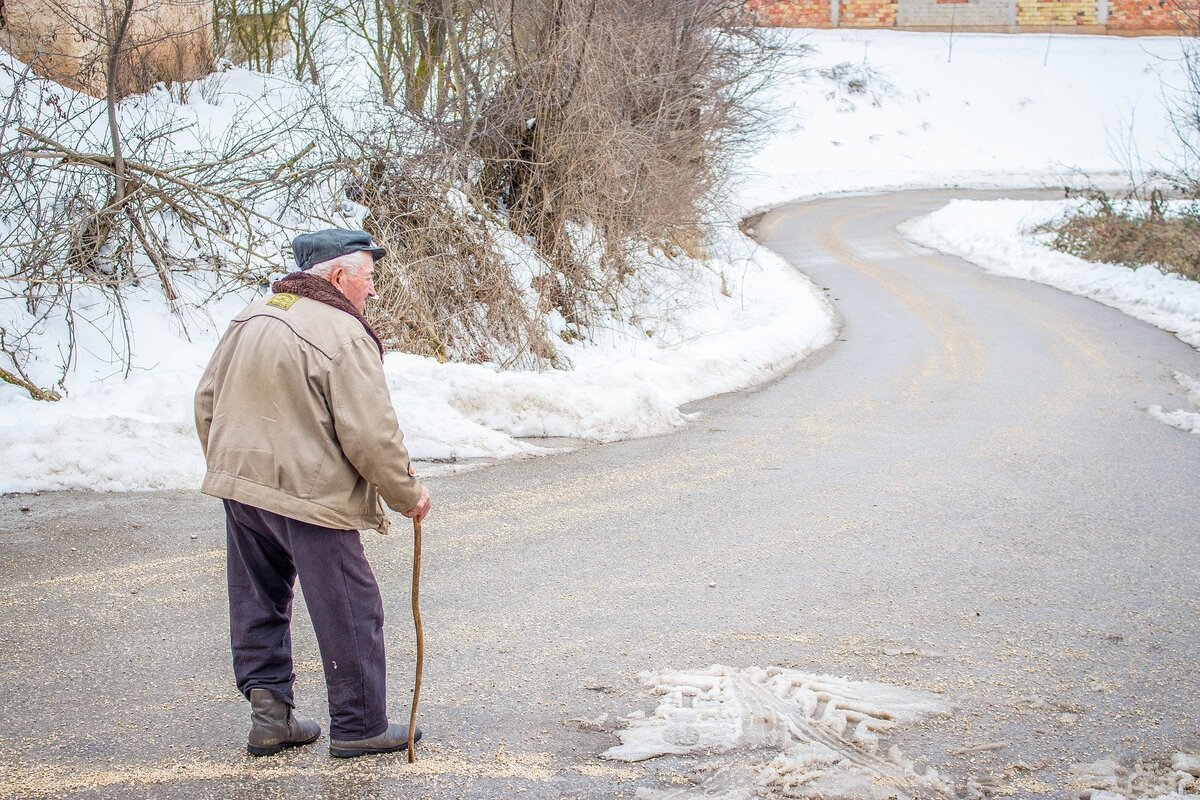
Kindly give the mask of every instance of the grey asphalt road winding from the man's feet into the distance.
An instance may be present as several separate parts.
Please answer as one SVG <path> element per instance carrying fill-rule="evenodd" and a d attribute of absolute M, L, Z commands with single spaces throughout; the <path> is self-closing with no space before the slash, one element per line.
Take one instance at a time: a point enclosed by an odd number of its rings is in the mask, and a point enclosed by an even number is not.
<path fill-rule="evenodd" d="M 0 799 L 631 798 L 572 720 L 649 710 L 640 670 L 781 664 L 940 692 L 895 744 L 965 792 L 1076 796 L 1064 770 L 1200 748 L 1200 354 L 1111 308 L 918 252 L 900 221 L 971 192 L 785 207 L 757 235 L 844 326 L 670 435 L 431 481 L 427 742 L 251 759 L 217 501 L 0 500 Z M 407 717 L 410 540 L 365 536 Z M 712 585 L 712 584 L 715 584 Z M 296 620 L 301 710 L 325 712 Z M 971 744 L 997 751 L 953 754 Z M 1016 765 L 1016 766 L 1014 766 Z"/>

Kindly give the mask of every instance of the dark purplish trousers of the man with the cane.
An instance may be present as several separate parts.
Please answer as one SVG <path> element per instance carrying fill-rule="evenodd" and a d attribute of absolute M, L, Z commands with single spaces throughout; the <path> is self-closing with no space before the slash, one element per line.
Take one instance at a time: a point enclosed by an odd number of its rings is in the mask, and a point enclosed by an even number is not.
<path fill-rule="evenodd" d="M 329 692 L 329 735 L 388 728 L 383 600 L 356 530 L 335 530 L 226 500 L 229 638 L 238 690 L 266 688 L 295 705 L 292 596 L 296 577 L 317 633 Z"/>

